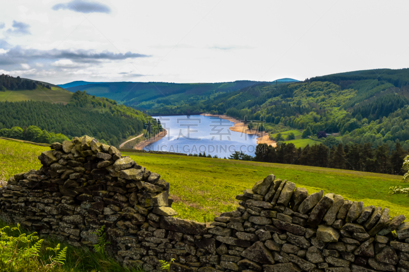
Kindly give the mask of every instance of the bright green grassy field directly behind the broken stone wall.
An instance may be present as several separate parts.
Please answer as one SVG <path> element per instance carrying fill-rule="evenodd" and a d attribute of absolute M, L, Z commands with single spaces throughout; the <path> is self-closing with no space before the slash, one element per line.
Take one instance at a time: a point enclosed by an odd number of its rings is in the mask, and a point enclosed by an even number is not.
<path fill-rule="evenodd" d="M 49 148 L 0 139 L 0 169 L 4 179 L 17 172 L 38 169 L 41 165 L 37 156 L 46 150 Z M 170 194 L 175 200 L 172 207 L 181 218 L 207 222 L 221 212 L 235 209 L 234 197 L 270 173 L 307 188 L 310 194 L 322 189 L 346 199 L 362 200 L 366 206 L 390 208 L 391 216 L 404 214 L 409 218 L 407 197 L 388 193 L 390 187 L 400 183 L 401 176 L 179 155 L 123 155 L 160 173 L 170 183 Z"/>

